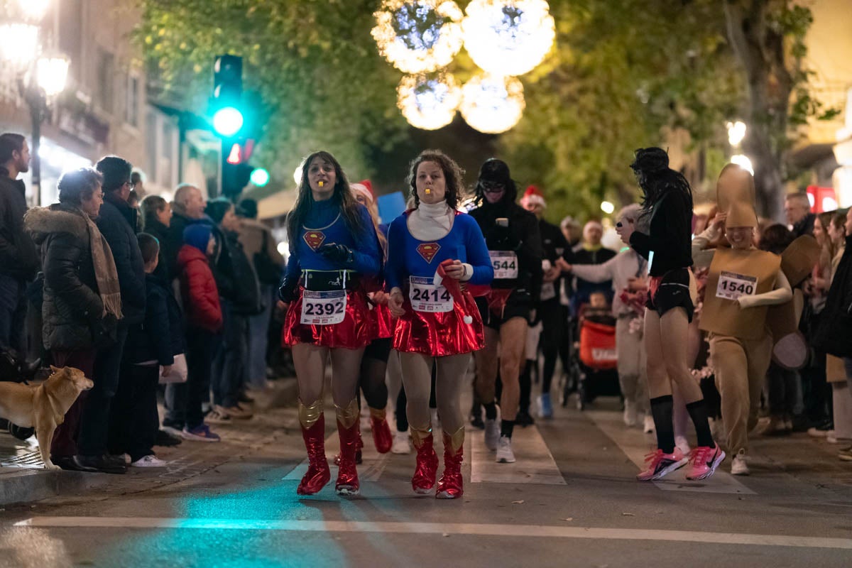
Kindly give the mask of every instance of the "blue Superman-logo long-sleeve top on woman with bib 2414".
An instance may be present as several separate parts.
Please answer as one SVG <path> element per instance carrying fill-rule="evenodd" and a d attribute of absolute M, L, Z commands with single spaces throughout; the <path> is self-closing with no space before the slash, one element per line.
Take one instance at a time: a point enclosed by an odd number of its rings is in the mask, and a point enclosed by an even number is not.
<path fill-rule="evenodd" d="M 402 288 L 409 276 L 431 278 L 438 265 L 452 259 L 467 262 L 474 268 L 470 284 L 490 284 L 494 278 L 494 267 L 488 256 L 488 247 L 482 231 L 470 215 L 459 213 L 452 229 L 436 241 L 421 241 L 408 231 L 408 215 L 404 213 L 394 219 L 388 230 L 388 263 L 384 279 L 387 290 Z"/>

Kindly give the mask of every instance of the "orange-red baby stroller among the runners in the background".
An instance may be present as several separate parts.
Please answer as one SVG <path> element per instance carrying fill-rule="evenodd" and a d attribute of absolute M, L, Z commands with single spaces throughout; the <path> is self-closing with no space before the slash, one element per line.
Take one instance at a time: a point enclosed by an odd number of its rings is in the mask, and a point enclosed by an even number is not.
<path fill-rule="evenodd" d="M 577 408 L 599 396 L 621 396 L 618 356 L 615 350 L 615 318 L 609 307 L 580 308 L 579 341 L 574 342 L 571 374 L 577 385 Z M 563 395 L 567 399 L 567 393 Z"/>

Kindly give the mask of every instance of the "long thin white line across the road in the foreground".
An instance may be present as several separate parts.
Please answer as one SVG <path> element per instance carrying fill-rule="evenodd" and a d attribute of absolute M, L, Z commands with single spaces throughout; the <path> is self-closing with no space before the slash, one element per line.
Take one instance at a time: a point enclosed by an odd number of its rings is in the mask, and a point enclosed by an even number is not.
<path fill-rule="evenodd" d="M 824 536 L 761 535 L 731 532 L 659 531 L 651 529 L 607 529 L 555 525 L 477 525 L 467 523 L 406 523 L 388 521 L 334 521 L 287 519 L 164 519 L 141 517 L 33 517 L 14 524 L 19 527 L 203 529 L 234 531 L 371 532 L 396 534 L 440 534 L 444 536 L 502 536 L 544 538 L 594 538 L 738 544 L 789 548 L 836 548 L 852 550 L 852 539 Z"/>

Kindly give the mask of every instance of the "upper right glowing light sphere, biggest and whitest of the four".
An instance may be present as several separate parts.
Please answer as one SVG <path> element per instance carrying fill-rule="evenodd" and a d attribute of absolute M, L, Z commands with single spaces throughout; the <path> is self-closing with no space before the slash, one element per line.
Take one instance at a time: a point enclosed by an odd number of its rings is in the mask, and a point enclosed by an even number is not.
<path fill-rule="evenodd" d="M 550 51 L 556 23 L 544 0 L 472 0 L 462 22 L 464 48 L 485 72 L 523 75 Z"/>

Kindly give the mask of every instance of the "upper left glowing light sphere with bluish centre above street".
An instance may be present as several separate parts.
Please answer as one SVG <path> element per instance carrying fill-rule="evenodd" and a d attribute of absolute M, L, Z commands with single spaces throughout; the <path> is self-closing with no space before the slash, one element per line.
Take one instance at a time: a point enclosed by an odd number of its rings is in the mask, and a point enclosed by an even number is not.
<path fill-rule="evenodd" d="M 462 49 L 462 10 L 452 1 L 384 0 L 373 14 L 379 53 L 401 72 L 434 72 Z"/>

